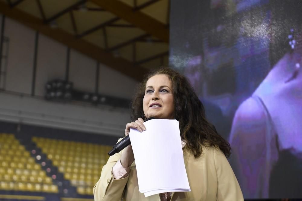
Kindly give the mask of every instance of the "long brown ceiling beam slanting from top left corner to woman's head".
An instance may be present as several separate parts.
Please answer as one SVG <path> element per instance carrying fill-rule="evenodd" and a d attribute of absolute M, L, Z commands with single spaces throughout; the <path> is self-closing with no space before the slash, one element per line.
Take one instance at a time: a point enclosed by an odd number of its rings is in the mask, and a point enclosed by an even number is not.
<path fill-rule="evenodd" d="M 138 81 L 141 81 L 143 75 L 147 72 L 146 69 L 140 66 L 133 68 L 132 62 L 123 58 L 115 58 L 111 53 L 84 39 L 77 39 L 61 29 L 52 29 L 39 18 L 17 8 L 11 9 L 8 4 L 3 2 L 0 2 L 0 13 Z"/>

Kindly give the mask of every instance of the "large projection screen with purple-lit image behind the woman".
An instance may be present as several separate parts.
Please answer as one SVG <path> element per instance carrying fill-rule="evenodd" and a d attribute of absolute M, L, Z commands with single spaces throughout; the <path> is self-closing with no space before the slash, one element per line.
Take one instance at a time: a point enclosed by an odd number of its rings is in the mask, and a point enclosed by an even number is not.
<path fill-rule="evenodd" d="M 169 63 L 230 142 L 245 198 L 302 198 L 301 25 L 299 0 L 171 1 Z"/>

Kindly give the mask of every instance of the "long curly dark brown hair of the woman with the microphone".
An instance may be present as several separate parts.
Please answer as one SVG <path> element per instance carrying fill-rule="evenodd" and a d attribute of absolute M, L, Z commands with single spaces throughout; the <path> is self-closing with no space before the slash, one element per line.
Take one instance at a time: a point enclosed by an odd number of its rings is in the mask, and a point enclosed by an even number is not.
<path fill-rule="evenodd" d="M 181 138 L 187 143 L 185 148 L 190 149 L 195 158 L 202 153 L 202 145 L 219 147 L 226 157 L 230 157 L 230 144 L 221 137 L 215 127 L 205 118 L 204 106 L 198 99 L 193 87 L 185 76 L 177 71 L 162 67 L 147 74 L 133 96 L 131 103 L 132 121 L 144 117 L 143 98 L 145 96 L 146 82 L 150 77 L 165 74 L 172 82 L 174 97 L 175 119 L 179 122 Z"/>

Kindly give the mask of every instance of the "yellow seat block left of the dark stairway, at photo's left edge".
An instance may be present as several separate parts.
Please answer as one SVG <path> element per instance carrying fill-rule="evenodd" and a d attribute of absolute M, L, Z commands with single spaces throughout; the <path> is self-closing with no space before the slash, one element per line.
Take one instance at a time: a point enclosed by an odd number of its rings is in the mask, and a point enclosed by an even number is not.
<path fill-rule="evenodd" d="M 0 163 L 1 190 L 58 192 L 52 178 L 46 175 L 13 134 L 0 133 Z"/>

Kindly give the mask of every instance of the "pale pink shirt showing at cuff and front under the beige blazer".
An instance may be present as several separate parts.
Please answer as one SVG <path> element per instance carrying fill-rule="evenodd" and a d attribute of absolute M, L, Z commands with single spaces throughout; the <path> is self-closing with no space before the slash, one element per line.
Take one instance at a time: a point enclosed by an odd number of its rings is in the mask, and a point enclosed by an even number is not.
<path fill-rule="evenodd" d="M 182 140 L 182 148 L 184 148 L 185 145 L 186 145 L 185 141 Z M 129 171 L 130 171 L 130 167 L 124 168 L 120 163 L 120 160 L 118 160 L 115 163 L 115 165 L 112 167 L 112 174 L 114 179 L 122 179 L 127 177 Z M 160 193 L 159 197 L 161 201 L 170 201 L 172 197 L 172 192 Z"/>

